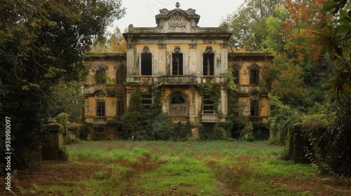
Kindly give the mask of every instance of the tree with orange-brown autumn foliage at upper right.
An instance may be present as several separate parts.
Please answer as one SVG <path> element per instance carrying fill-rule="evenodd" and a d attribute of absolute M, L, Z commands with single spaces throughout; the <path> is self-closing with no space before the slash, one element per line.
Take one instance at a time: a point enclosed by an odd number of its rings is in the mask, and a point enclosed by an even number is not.
<path fill-rule="evenodd" d="M 314 43 L 312 31 L 322 29 L 329 20 L 322 6 L 326 0 L 305 1 L 286 0 L 289 18 L 283 22 L 285 37 L 285 52 L 292 62 L 316 62 L 322 56 L 319 45 Z"/>

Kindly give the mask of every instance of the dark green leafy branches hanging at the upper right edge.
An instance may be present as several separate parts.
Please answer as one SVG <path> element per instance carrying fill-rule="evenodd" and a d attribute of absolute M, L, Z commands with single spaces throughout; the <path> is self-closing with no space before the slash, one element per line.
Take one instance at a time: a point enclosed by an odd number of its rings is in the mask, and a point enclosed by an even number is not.
<path fill-rule="evenodd" d="M 343 1 L 327 1 L 324 10 L 336 18 L 326 25 L 322 31 L 314 32 L 318 38 L 315 43 L 322 45 L 333 61 L 333 78 L 324 85 L 325 89 L 333 90 L 340 101 L 342 94 L 351 96 L 351 10 L 346 11 L 350 3 Z"/>

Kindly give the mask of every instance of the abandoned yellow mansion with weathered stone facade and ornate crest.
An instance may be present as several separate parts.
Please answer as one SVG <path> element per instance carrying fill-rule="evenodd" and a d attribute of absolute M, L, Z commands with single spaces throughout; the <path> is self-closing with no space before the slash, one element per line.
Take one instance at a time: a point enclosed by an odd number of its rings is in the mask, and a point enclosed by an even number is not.
<path fill-rule="evenodd" d="M 156 27 L 129 25 L 123 34 L 126 53 L 86 55 L 81 116 L 92 125 L 88 139 L 123 137 L 121 116 L 133 104 L 134 92 L 146 110 L 158 97 L 171 126 L 189 122 L 192 139 L 199 137 L 200 127 L 224 122 L 229 114 L 267 123 L 270 105 L 261 73 L 274 56 L 228 52 L 232 34 L 227 27 L 198 27 L 200 15 L 179 3 L 159 10 L 155 19 Z M 242 110 L 230 113 L 239 105 Z"/>

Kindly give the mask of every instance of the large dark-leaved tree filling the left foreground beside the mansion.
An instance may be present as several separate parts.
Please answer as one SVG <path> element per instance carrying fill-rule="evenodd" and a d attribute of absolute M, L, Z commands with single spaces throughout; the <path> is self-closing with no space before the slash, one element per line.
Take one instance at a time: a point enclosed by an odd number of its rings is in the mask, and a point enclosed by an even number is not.
<path fill-rule="evenodd" d="M 24 149 L 43 145 L 53 85 L 84 78 L 84 52 L 125 9 L 119 0 L 7 0 L 0 13 L 0 113 L 12 120 L 15 168 L 25 164 Z"/>

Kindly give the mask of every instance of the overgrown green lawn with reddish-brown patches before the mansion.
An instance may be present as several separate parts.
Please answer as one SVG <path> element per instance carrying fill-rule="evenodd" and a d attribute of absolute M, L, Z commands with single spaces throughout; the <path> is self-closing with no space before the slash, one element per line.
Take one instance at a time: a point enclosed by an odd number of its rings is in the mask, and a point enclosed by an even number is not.
<path fill-rule="evenodd" d="M 265 141 L 82 141 L 68 146 L 67 151 L 67 165 L 88 170 L 79 173 L 52 165 L 51 169 L 75 176 L 65 179 L 59 175 L 31 188 L 19 187 L 17 193 L 316 195 L 317 191 L 296 184 L 309 181 L 317 169 L 279 160 L 282 147 Z"/>

